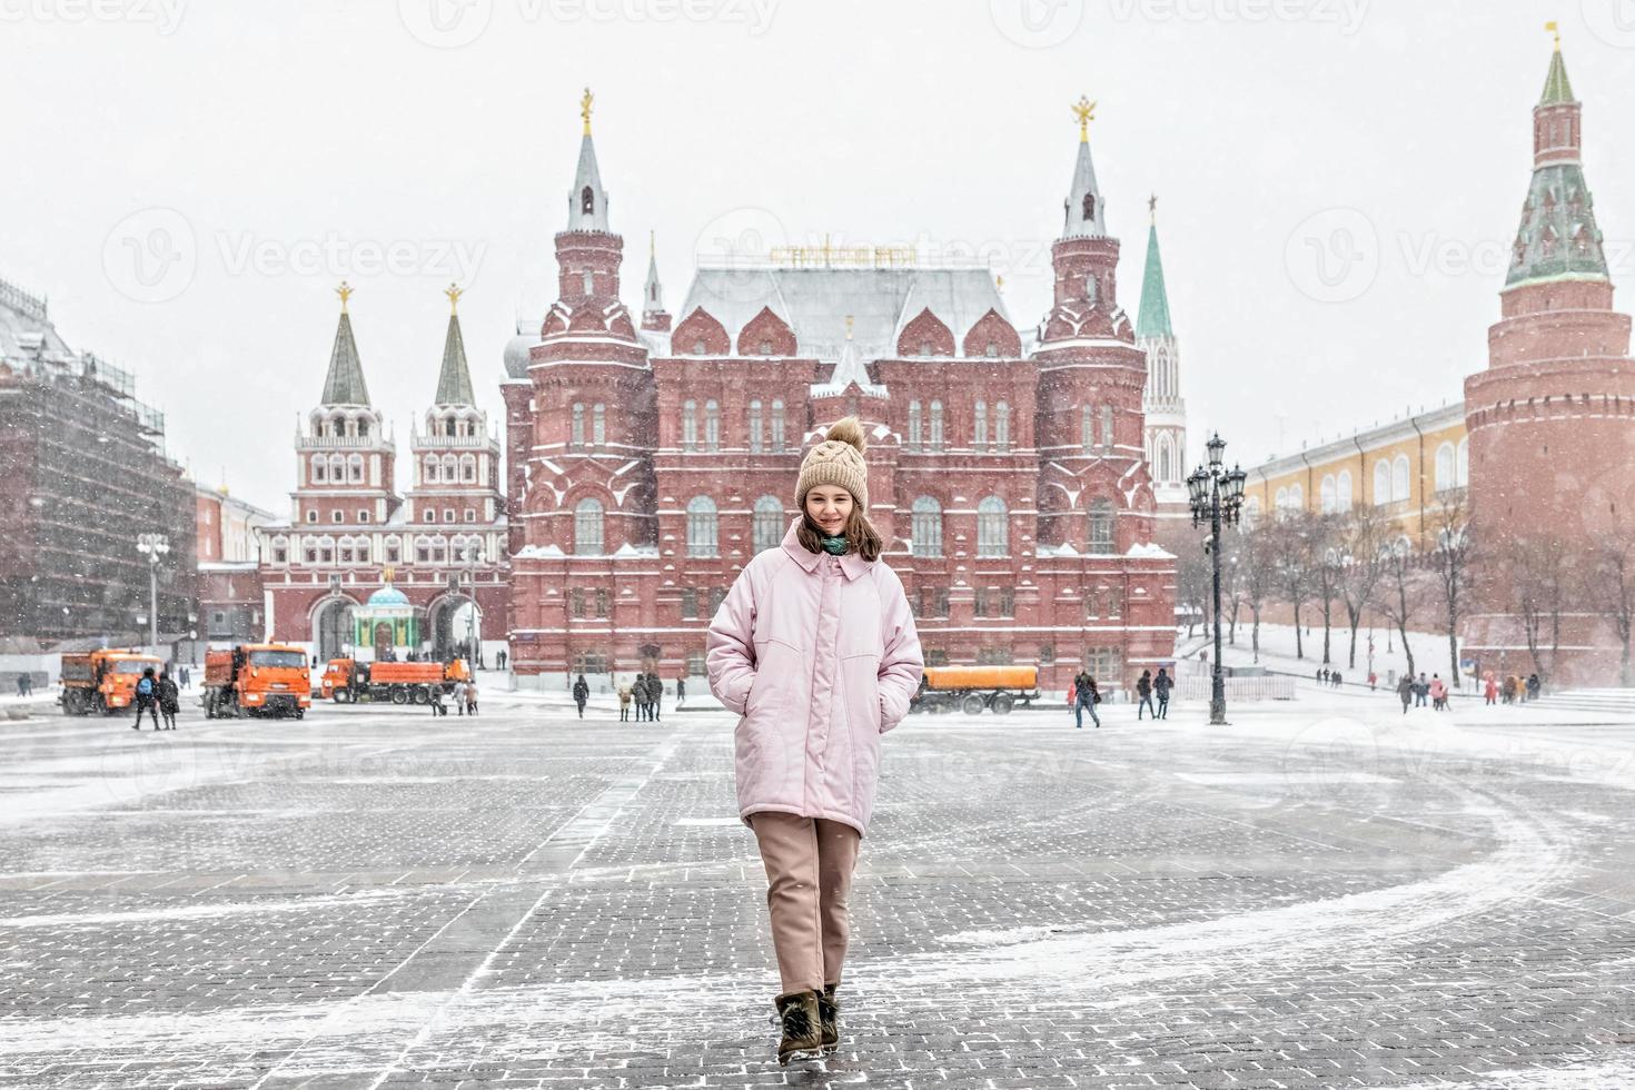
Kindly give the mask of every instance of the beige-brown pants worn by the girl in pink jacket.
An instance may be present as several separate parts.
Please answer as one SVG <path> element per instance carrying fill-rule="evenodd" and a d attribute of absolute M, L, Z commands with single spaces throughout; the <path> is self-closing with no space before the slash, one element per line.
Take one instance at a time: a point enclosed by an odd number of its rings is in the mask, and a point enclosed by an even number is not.
<path fill-rule="evenodd" d="M 783 994 L 839 984 L 849 935 L 845 900 L 862 837 L 845 822 L 821 817 L 762 812 L 749 822 L 767 868 Z"/>

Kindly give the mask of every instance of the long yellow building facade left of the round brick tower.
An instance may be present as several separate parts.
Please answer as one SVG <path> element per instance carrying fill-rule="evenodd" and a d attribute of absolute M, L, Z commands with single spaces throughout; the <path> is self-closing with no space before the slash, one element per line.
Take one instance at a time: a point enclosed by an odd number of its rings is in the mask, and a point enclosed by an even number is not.
<path fill-rule="evenodd" d="M 1344 515 L 1367 503 L 1422 549 L 1427 528 L 1436 533 L 1439 497 L 1470 482 L 1465 405 L 1391 420 L 1246 472 L 1244 515 L 1251 521 L 1282 510 Z"/>

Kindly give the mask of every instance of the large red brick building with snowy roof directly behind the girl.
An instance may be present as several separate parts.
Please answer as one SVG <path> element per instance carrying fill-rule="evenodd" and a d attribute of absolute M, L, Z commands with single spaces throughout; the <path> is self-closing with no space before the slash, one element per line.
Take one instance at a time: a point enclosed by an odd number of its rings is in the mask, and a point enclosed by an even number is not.
<path fill-rule="evenodd" d="M 827 248 L 698 268 L 675 320 L 649 263 L 638 322 L 589 114 L 567 203 L 558 299 L 505 353 L 520 673 L 701 673 L 716 603 L 782 539 L 804 449 L 849 413 L 927 660 L 1040 662 L 1051 688 L 1081 662 L 1127 685 L 1167 660 L 1148 353 L 1082 127 L 1055 301 L 1028 330 L 988 270 Z"/>

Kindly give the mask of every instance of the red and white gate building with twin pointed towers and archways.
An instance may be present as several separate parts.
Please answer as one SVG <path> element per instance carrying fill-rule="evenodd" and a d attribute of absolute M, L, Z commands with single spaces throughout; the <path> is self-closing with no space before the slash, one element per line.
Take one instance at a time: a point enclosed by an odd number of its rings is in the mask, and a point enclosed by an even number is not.
<path fill-rule="evenodd" d="M 504 646 L 505 502 L 499 441 L 476 405 L 459 317 L 450 314 L 437 394 L 410 431 L 410 485 L 399 495 L 397 446 L 370 404 L 350 294 L 342 284 L 324 394 L 296 431 L 289 521 L 258 529 L 268 637 L 319 659 L 387 649 L 443 659 L 474 637 L 487 659 Z M 448 296 L 455 304 L 459 291 Z M 407 639 L 401 628 L 368 623 L 371 595 L 397 600 L 386 583 L 412 608 Z"/>

